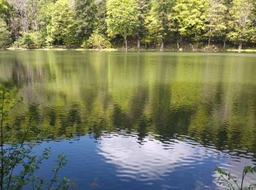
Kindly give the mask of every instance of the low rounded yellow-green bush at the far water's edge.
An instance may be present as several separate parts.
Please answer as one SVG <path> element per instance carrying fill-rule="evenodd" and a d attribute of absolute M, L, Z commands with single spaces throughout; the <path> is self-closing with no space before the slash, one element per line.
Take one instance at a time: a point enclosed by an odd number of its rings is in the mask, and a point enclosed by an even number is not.
<path fill-rule="evenodd" d="M 81 47 L 102 49 L 111 47 L 111 44 L 108 39 L 105 39 L 102 34 L 99 34 L 99 31 L 94 31 L 91 37 L 83 42 Z"/>

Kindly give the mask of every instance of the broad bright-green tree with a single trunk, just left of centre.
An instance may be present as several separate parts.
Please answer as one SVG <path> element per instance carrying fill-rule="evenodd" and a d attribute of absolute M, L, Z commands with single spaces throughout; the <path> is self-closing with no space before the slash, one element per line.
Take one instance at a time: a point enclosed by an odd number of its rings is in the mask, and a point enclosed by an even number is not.
<path fill-rule="evenodd" d="M 127 50 L 127 37 L 139 26 L 138 2 L 136 0 L 108 0 L 107 26 L 110 37 L 121 34 Z"/>

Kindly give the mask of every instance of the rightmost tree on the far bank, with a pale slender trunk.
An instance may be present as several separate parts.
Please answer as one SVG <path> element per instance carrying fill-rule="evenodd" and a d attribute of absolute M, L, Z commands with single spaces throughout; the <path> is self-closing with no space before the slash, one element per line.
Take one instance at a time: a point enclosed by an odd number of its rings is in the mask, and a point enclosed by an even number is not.
<path fill-rule="evenodd" d="M 238 43 L 238 50 L 241 50 L 243 42 L 248 42 L 252 37 L 252 9 L 253 4 L 250 0 L 234 0 L 230 9 L 232 31 L 227 37 L 230 41 Z"/>

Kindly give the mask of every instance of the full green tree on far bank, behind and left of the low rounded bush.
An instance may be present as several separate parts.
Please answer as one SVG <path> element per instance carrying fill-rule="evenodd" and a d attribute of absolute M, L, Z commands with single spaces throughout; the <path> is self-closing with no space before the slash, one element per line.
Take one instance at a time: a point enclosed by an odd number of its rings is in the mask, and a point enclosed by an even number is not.
<path fill-rule="evenodd" d="M 76 43 L 74 13 L 67 0 L 56 1 L 48 26 L 48 41 L 50 43 L 68 45 L 69 47 Z"/>

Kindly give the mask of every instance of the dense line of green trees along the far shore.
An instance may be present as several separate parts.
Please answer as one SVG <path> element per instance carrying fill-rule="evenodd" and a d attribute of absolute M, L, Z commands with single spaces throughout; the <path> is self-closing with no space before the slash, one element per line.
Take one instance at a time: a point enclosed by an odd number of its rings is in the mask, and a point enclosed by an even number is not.
<path fill-rule="evenodd" d="M 0 46 L 256 42 L 253 0 L 0 0 Z"/>

